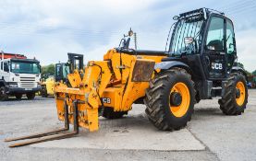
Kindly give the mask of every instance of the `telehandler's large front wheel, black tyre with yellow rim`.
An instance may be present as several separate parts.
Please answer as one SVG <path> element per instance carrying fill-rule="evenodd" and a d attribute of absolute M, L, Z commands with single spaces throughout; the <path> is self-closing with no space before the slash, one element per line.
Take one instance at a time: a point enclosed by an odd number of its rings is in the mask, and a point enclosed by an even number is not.
<path fill-rule="evenodd" d="M 144 102 L 149 120 L 159 130 L 185 127 L 191 120 L 195 104 L 191 75 L 180 68 L 156 75 L 150 82 Z"/>

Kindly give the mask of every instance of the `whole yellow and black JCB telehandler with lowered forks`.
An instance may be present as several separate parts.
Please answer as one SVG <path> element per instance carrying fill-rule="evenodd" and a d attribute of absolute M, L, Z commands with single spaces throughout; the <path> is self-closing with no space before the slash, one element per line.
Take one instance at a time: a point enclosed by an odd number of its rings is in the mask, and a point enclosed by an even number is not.
<path fill-rule="evenodd" d="M 134 103 L 144 102 L 149 120 L 164 131 L 185 127 L 194 104 L 201 99 L 219 98 L 226 115 L 244 112 L 247 75 L 236 66 L 232 21 L 207 8 L 174 19 L 177 22 L 168 51 L 129 49 L 130 38 L 123 39 L 122 47 L 104 54 L 104 61 L 91 61 L 84 70 L 67 75 L 68 84 L 55 85 L 57 115 L 65 121 L 65 128 L 7 139 L 36 138 L 10 147 L 70 137 L 79 127 L 97 131 L 99 115 L 121 118 Z M 74 125 L 74 132 L 67 132 L 69 123 Z"/>

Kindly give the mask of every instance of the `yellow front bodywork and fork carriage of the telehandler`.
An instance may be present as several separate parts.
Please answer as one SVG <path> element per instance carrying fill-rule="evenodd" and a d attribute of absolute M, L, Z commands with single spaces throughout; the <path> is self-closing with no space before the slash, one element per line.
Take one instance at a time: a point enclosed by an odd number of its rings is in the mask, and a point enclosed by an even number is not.
<path fill-rule="evenodd" d="M 130 110 L 137 99 L 145 96 L 149 79 L 153 76 L 154 63 L 161 62 L 164 57 L 129 55 L 113 49 L 104 55 L 104 61 L 89 62 L 83 71 L 76 70 L 67 76 L 71 86 L 63 83 L 55 85 L 59 120 L 64 121 L 65 101 L 68 112 L 72 113 L 73 101 L 79 100 L 79 126 L 90 132 L 97 131 L 98 109 Z M 146 77 L 149 79 L 146 80 Z M 69 121 L 73 122 L 72 115 Z"/>

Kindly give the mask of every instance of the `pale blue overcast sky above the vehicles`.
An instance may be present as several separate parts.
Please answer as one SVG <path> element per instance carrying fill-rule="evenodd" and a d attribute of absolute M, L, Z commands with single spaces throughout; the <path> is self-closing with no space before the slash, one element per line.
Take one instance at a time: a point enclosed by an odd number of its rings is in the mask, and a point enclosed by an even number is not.
<path fill-rule="evenodd" d="M 233 19 L 238 62 L 256 70 L 255 0 L 0 0 L 0 50 L 67 62 L 67 52 L 102 60 L 131 27 L 139 49 L 165 50 L 172 17 L 210 7 Z"/>

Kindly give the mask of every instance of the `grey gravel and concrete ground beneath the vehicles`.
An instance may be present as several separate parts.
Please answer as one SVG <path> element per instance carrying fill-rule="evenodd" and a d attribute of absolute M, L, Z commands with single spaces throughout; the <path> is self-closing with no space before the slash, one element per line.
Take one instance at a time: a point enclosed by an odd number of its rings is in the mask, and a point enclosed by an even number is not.
<path fill-rule="evenodd" d="M 75 138 L 8 148 L 3 142 L 6 137 L 54 130 L 63 124 L 56 119 L 54 98 L 10 99 L 0 102 L 0 160 L 256 160 L 255 122 L 256 90 L 250 90 L 243 115 L 225 116 L 217 99 L 203 100 L 179 132 L 156 131 L 144 115 L 144 106 L 136 105 L 124 119 L 101 118 L 99 132 L 81 130 Z"/>

